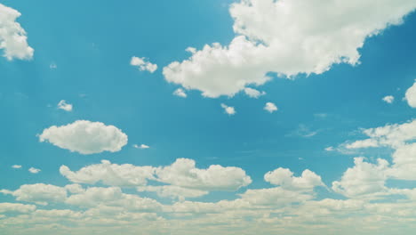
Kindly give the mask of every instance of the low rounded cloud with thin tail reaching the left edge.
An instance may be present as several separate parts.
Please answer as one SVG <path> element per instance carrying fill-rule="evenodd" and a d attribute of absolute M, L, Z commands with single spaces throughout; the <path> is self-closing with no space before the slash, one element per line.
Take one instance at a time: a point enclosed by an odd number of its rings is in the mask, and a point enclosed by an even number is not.
<path fill-rule="evenodd" d="M 44 183 L 25 184 L 18 190 L 0 190 L 0 192 L 10 194 L 18 201 L 34 202 L 39 205 L 64 202 L 67 199 L 67 190 Z"/>

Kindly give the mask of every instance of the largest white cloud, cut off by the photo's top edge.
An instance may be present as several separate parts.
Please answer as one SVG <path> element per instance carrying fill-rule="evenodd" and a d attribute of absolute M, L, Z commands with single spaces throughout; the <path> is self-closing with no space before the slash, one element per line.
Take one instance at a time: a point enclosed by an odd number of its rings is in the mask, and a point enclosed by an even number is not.
<path fill-rule="evenodd" d="M 263 85 L 268 72 L 293 77 L 356 65 L 367 37 L 400 24 L 415 7 L 413 0 L 241 0 L 230 7 L 232 42 L 188 49 L 191 57 L 165 67 L 164 77 L 215 98 Z"/>

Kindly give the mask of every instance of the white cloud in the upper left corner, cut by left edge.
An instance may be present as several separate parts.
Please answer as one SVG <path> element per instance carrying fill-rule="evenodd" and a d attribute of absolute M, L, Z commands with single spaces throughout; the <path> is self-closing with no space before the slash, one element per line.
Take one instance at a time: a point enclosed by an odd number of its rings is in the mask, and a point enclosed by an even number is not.
<path fill-rule="evenodd" d="M 0 4 L 0 50 L 4 50 L 4 57 L 12 59 L 30 60 L 34 50 L 28 45 L 28 36 L 16 19 L 20 12 Z"/>

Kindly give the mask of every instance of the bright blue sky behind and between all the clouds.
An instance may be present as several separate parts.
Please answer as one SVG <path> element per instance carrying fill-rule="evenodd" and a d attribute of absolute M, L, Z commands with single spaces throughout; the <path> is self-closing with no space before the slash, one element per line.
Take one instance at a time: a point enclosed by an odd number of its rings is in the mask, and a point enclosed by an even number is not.
<path fill-rule="evenodd" d="M 195 160 L 196 167 L 201 169 L 212 165 L 236 166 L 252 179 L 250 185 L 238 190 L 212 190 L 202 197 L 187 199 L 194 202 L 234 200 L 239 199 L 239 194 L 247 189 L 270 188 L 270 183 L 263 179 L 264 174 L 279 167 L 290 169 L 296 177 L 305 169 L 322 177 L 322 182 L 328 188 L 317 187 L 312 193 L 312 201 L 358 200 L 370 205 L 383 200 L 390 203 L 397 197 L 403 199 L 404 196 L 400 193 L 399 196 L 389 195 L 383 199 L 368 199 L 363 195 L 350 197 L 333 190 L 332 182 L 340 181 L 346 170 L 355 166 L 356 157 L 365 157 L 367 159 L 364 162 L 374 165 L 377 164 L 377 158 L 393 163 L 392 153 L 396 147 L 380 145 L 377 148 L 348 151 L 345 146 L 346 143 L 367 139 L 361 132 L 362 129 L 402 125 L 414 118 L 415 110 L 404 97 L 416 78 L 416 14 L 404 14 L 404 23 L 366 38 L 364 46 L 358 49 L 361 54 L 359 64 L 333 64 L 322 74 L 311 73 L 306 76 L 301 73 L 292 79 L 270 73 L 273 77 L 271 81 L 257 87 L 251 86 L 266 92 L 258 99 L 252 99 L 244 93 L 210 98 L 202 96 L 201 91 L 196 89 L 186 90 L 187 98 L 173 95 L 180 85 L 168 83 L 162 70 L 172 61 L 188 60 L 190 54 L 185 49 L 189 46 L 201 50 L 204 45 L 215 42 L 230 44 L 238 35 L 233 31 L 234 20 L 228 12 L 229 4 L 234 2 L 239 1 L 103 3 L 98 0 L 3 0 L 1 4 L 21 13 L 17 22 L 26 30 L 28 45 L 35 49 L 35 53 L 30 60 L 10 61 L 0 57 L 0 190 L 15 191 L 21 185 L 35 183 L 64 187 L 71 182 L 60 174 L 62 165 L 76 171 L 107 159 L 118 165 L 156 167 L 169 166 L 177 158 L 188 158 Z M 376 1 L 371 2 L 377 4 Z M 414 7 L 410 10 L 412 12 Z M 372 13 L 371 9 L 364 11 Z M 0 53 L 3 53 L 2 50 Z M 158 69 L 154 73 L 140 71 L 130 65 L 132 56 L 146 57 L 157 64 Z M 56 65 L 56 68 L 51 68 L 51 65 Z M 393 103 L 382 101 L 388 95 L 395 97 Z M 72 104 L 73 110 L 58 109 L 57 104 L 61 100 Z M 266 102 L 275 103 L 278 110 L 268 113 L 263 109 Z M 221 103 L 234 107 L 236 114 L 225 113 Z M 42 134 L 44 129 L 68 125 L 76 120 L 116 126 L 128 135 L 128 143 L 116 152 L 103 151 L 85 155 L 54 146 L 51 141 L 39 141 L 38 134 Z M 416 134 L 412 138 L 416 138 Z M 414 141 L 412 138 L 406 139 L 406 144 L 411 145 Z M 134 148 L 134 144 L 146 144 L 150 148 L 140 150 Z M 328 147 L 333 150 L 325 150 Z M 416 156 L 412 154 L 410 152 L 408 158 L 416 161 Z M 20 165 L 21 168 L 12 168 L 13 165 Z M 31 174 L 28 172 L 30 167 L 41 171 Z M 416 187 L 416 177 L 407 181 L 400 177 L 385 180 L 385 185 L 390 189 L 414 190 Z M 105 183 L 81 184 L 84 189 L 116 186 Z M 149 185 L 158 183 L 149 182 Z M 159 197 L 152 192 L 137 192 L 123 187 L 122 190 L 156 199 L 164 205 L 177 202 L 176 199 Z M 408 203 L 406 207 L 416 208 L 416 197 L 414 199 L 406 199 L 409 200 L 405 202 Z M 0 204 L 2 203 L 36 204 L 30 200 L 17 199 L 10 193 L 0 193 Z M 295 202 L 294 205 L 300 207 L 298 204 L 303 203 Z M 296 209 L 295 206 L 287 207 Z M 42 209 L 84 212 L 91 208 L 67 206 L 63 202 L 36 206 L 36 210 Z M 35 214 L 36 211 L 30 213 Z M 165 211 L 155 213 L 164 217 L 164 220 L 172 217 L 178 219 L 167 215 L 169 213 Z M 277 212 L 270 213 L 274 215 Z M 347 209 L 337 213 L 348 218 L 358 216 L 350 215 Z M 12 218 L 22 216 L 21 214 L 25 213 L 4 212 L 4 218 L 0 217 L 0 234 L 36 234 L 31 233 L 33 228 L 30 224 L 11 223 Z M 369 213 L 363 215 L 363 218 L 375 222 L 372 215 L 375 216 Z M 33 216 L 30 218 L 35 221 L 35 215 Z M 201 215 L 188 216 L 190 217 L 181 221 L 180 228 L 164 228 L 162 231 L 149 228 L 146 232 L 140 232 L 192 233 L 195 231 L 192 229 L 195 226 L 193 220 L 200 219 Z M 227 216 L 227 213 L 223 216 Z M 301 228 L 310 229 L 310 234 L 315 234 L 316 224 L 327 225 L 319 220 L 320 217 L 316 218 L 313 223 L 306 222 Z M 402 225 L 397 225 L 399 223 L 395 219 Z M 416 229 L 415 220 L 414 214 L 407 216 L 406 220 L 391 215 L 386 224 L 396 224 L 398 229 L 382 233 L 384 225 L 378 227 L 378 223 L 374 223 L 375 229 L 363 228 L 362 231 L 356 230 L 355 234 L 411 234 L 406 232 Z M 247 221 L 251 222 L 249 219 Z M 43 233 L 52 232 L 47 229 L 48 223 L 44 220 L 44 228 L 37 229 Z M 68 222 L 62 219 L 53 222 L 55 223 L 55 229 L 63 233 L 65 230 L 60 226 L 76 227 L 73 234 L 114 234 L 99 233 L 95 227 L 92 229 L 90 225 L 72 220 Z M 143 224 L 147 223 L 140 223 L 140 227 L 146 226 Z M 218 229 L 220 234 L 243 231 L 237 226 L 228 228 L 222 223 L 218 226 L 204 224 L 198 226 Z M 255 224 L 261 223 L 256 221 Z M 278 229 L 275 228 L 276 224 L 280 224 Z M 116 230 L 117 226 L 114 225 L 108 232 Z M 134 223 L 129 223 L 127 229 L 132 229 L 133 226 Z M 275 234 L 301 233 L 292 227 L 285 230 L 284 223 L 278 221 L 260 227 L 265 231 L 259 231 L 259 234 L 269 234 L 270 231 Z M 272 227 L 273 230 L 268 231 Z M 119 234 L 133 234 L 127 229 Z M 337 231 L 336 229 L 340 228 L 328 225 L 319 232 L 333 234 L 332 231 Z M 204 234 L 204 230 L 197 234 Z M 243 231 L 240 234 L 251 233 Z"/>

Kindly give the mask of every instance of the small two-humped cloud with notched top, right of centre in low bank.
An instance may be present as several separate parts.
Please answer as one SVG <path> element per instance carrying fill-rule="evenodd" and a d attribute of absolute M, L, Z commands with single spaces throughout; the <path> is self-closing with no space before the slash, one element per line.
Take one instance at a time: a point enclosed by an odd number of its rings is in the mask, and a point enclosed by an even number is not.
<path fill-rule="evenodd" d="M 305 170 L 300 177 L 294 177 L 291 170 L 278 168 L 265 174 L 264 180 L 284 190 L 313 190 L 316 186 L 324 186 L 321 176 L 309 170 Z"/>

